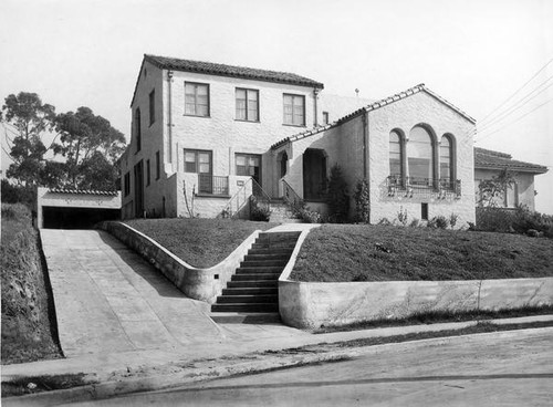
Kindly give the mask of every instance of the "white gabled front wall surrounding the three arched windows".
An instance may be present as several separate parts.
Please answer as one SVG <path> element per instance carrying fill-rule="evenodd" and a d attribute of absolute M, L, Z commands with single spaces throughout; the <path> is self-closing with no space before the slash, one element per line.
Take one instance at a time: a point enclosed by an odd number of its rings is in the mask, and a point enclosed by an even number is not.
<path fill-rule="evenodd" d="M 409 132 L 421 124 L 426 125 L 435 134 L 438 142 L 438 152 L 439 142 L 445 134 L 450 134 L 455 138 L 456 178 L 461 180 L 460 199 L 421 198 L 417 197 L 416 194 L 414 194 L 413 198 L 406 198 L 405 194 L 398 194 L 395 197 L 387 196 L 386 177 L 389 175 L 389 133 L 393 129 L 400 129 L 407 138 L 406 150 L 408 150 Z M 368 128 L 371 221 L 373 223 L 383 218 L 390 221 L 396 219 L 399 207 L 407 210 L 409 220 L 420 219 L 422 202 L 428 204 L 429 219 L 436 216 L 449 217 L 451 213 L 456 213 L 459 217 L 457 227 L 467 226 L 467 222 L 474 222 L 472 139 L 474 125 L 472 123 L 426 92 L 418 92 L 369 112 Z M 435 154 L 435 159 L 437 157 L 438 154 Z M 406 163 L 405 158 L 404 163 Z M 405 167 L 408 176 L 408 166 Z M 439 178 L 439 176 L 435 175 L 435 178 Z"/>

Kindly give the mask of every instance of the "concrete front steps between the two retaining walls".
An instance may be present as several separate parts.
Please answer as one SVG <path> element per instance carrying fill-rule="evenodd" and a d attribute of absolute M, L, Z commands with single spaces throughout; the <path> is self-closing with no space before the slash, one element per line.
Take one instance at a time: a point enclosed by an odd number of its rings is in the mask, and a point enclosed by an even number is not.
<path fill-rule="evenodd" d="M 280 322 L 278 280 L 299 237 L 300 232 L 260 233 L 211 305 L 211 319 L 227 323 Z"/>

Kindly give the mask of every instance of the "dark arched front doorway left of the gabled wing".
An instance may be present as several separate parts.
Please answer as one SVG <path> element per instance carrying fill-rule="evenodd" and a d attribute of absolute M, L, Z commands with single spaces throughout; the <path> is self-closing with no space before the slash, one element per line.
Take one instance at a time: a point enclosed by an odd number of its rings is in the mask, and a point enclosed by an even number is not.
<path fill-rule="evenodd" d="M 326 190 L 326 155 L 307 148 L 303 154 L 303 199 L 323 200 Z"/>

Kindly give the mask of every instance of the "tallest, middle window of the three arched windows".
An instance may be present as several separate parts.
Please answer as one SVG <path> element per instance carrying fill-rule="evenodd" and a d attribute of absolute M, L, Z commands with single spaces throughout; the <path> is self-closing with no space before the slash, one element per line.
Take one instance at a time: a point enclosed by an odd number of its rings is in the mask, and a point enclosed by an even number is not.
<path fill-rule="evenodd" d="M 434 148 L 430 134 L 422 127 L 414 127 L 409 133 L 407 150 L 410 182 L 416 185 L 432 185 Z"/>

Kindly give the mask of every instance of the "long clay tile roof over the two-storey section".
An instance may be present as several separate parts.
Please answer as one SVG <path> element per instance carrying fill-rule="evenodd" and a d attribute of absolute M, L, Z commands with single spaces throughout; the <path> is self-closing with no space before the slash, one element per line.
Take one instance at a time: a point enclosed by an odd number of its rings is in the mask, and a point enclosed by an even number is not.
<path fill-rule="evenodd" d="M 248 80 L 286 83 L 291 85 L 323 88 L 321 82 L 289 72 L 258 70 L 254 67 L 223 65 L 219 63 L 180 60 L 177 58 L 145 54 L 144 60 L 165 70 L 205 73 L 219 76 L 242 77 Z"/>

